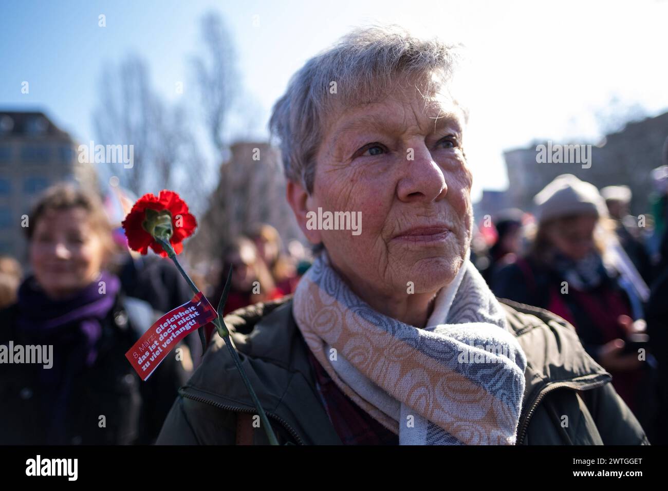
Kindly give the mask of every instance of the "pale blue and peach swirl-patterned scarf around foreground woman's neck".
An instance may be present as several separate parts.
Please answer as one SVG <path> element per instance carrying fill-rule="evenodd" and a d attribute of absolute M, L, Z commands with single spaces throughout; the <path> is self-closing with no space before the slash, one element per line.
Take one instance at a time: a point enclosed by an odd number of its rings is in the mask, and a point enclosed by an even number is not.
<path fill-rule="evenodd" d="M 399 444 L 514 444 L 526 357 L 468 257 L 424 329 L 374 311 L 326 252 L 299 282 L 293 312 L 337 386 Z"/>

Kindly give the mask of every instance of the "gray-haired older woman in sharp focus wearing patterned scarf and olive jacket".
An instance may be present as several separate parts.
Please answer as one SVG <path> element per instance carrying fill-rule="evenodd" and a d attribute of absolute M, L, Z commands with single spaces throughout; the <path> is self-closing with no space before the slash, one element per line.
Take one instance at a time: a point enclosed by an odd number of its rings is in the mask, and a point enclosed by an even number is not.
<path fill-rule="evenodd" d="M 361 29 L 309 60 L 274 108 L 287 198 L 321 252 L 292 299 L 226 323 L 279 442 L 646 442 L 572 327 L 500 305 L 468 260 L 457 57 Z M 327 212 L 361 223 L 312 219 Z M 265 444 L 254 412 L 216 339 L 158 443 Z"/>

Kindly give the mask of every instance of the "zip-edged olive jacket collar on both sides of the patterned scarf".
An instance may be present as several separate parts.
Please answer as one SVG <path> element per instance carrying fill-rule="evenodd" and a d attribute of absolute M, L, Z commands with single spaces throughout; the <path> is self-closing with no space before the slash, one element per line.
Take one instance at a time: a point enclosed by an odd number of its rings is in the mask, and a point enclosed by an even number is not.
<path fill-rule="evenodd" d="M 566 321 L 536 307 L 500 301 L 527 360 L 519 442 L 544 393 L 560 387 L 592 389 L 612 377 L 585 353 Z M 225 323 L 234 346 L 245 355 L 242 365 L 270 418 L 287 422 L 303 443 L 341 444 L 314 389 L 309 348 L 295 323 L 291 297 L 240 309 L 226 316 Z M 255 409 L 219 336 L 180 392 L 228 410 Z"/>

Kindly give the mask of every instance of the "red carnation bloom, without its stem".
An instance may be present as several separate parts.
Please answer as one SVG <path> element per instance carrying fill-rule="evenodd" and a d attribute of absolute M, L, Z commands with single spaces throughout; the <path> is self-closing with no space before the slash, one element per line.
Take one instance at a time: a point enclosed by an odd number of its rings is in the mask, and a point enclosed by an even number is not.
<path fill-rule="evenodd" d="M 150 246 L 162 257 L 168 254 L 156 236 L 169 240 L 174 252 L 179 254 L 183 250 L 181 242 L 192 235 L 196 226 L 197 220 L 188 212 L 186 202 L 176 192 L 166 189 L 160 191 L 158 197 L 152 193 L 144 194 L 123 220 L 130 249 L 145 255 Z"/>

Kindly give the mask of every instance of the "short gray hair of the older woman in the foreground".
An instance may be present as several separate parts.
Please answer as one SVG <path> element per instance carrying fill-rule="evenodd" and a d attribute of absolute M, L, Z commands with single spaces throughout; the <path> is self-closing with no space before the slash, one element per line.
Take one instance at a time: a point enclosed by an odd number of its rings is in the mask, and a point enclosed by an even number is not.
<path fill-rule="evenodd" d="M 271 134 L 279 140 L 285 176 L 313 192 L 315 156 L 333 104 L 377 101 L 397 82 L 397 75 L 419 82 L 431 94 L 452 77 L 461 47 L 419 39 L 396 25 L 372 26 L 351 31 L 309 59 L 291 78 L 269 121 Z M 336 96 L 330 93 L 332 82 Z"/>

